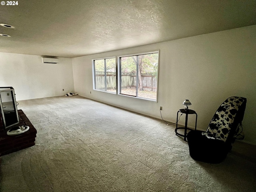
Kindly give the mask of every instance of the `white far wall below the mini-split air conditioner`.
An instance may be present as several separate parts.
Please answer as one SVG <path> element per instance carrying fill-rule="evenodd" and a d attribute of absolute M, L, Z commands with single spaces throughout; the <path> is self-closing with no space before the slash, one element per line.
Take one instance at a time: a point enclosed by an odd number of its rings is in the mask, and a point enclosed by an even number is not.
<path fill-rule="evenodd" d="M 41 56 L 0 52 L 0 86 L 12 86 L 16 100 L 74 92 L 72 59 L 59 60 L 58 64 L 43 64 Z"/>

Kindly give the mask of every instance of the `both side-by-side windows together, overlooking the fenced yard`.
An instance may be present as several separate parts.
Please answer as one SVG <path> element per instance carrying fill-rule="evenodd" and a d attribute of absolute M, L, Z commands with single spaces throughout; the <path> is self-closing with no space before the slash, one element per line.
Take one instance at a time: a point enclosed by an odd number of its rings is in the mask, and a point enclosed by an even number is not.
<path fill-rule="evenodd" d="M 120 56 L 118 71 L 116 58 L 92 60 L 94 90 L 156 101 L 158 54 L 158 52 L 151 52 Z"/>

